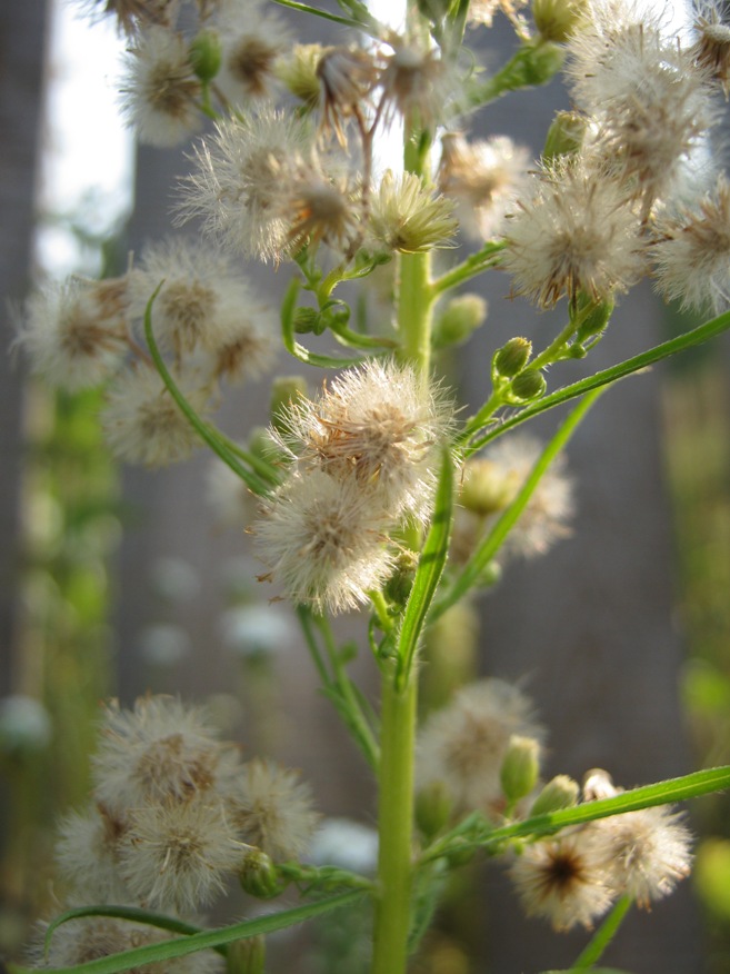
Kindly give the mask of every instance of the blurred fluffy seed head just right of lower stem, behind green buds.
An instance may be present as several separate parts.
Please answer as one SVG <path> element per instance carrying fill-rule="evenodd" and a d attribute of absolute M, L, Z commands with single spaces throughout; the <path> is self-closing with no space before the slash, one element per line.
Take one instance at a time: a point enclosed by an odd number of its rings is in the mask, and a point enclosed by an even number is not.
<path fill-rule="evenodd" d="M 513 734 L 540 741 L 532 703 L 518 687 L 484 679 L 433 713 L 418 738 L 419 789 L 441 783 L 460 809 L 487 814 L 503 805 L 500 768 Z"/>

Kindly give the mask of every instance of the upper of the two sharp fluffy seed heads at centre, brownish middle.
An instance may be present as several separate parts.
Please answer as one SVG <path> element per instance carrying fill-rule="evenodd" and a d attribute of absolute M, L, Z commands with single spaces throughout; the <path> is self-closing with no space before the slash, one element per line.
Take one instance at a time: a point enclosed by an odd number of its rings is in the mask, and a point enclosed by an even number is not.
<path fill-rule="evenodd" d="M 391 517 L 426 520 L 452 417 L 438 386 L 408 366 L 372 359 L 342 372 L 318 399 L 297 400 L 274 439 L 309 468 L 354 477 Z"/>

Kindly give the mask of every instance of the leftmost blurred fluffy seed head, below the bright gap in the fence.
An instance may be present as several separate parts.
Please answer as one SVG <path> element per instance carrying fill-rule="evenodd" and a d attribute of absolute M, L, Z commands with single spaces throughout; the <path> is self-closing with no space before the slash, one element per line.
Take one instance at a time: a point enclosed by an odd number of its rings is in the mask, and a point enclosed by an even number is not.
<path fill-rule="evenodd" d="M 123 279 L 49 282 L 18 315 L 16 346 L 27 352 L 33 371 L 53 386 L 98 386 L 129 351 L 126 312 Z"/>

